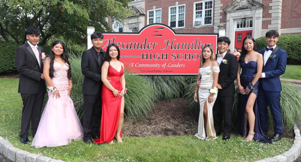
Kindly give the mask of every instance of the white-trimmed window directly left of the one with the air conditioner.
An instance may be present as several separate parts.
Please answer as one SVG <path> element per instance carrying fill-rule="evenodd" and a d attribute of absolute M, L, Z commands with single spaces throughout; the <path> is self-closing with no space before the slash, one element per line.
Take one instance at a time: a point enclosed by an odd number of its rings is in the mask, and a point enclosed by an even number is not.
<path fill-rule="evenodd" d="M 172 28 L 185 27 L 185 4 L 169 7 L 168 24 Z"/>

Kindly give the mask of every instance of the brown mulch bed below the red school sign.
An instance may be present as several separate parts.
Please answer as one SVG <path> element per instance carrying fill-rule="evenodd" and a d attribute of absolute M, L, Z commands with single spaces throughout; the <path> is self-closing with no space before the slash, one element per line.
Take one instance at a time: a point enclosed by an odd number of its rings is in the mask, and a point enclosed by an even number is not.
<path fill-rule="evenodd" d="M 149 117 L 139 122 L 124 121 L 125 137 L 181 136 L 198 132 L 198 116 L 187 109 L 186 99 L 161 101 L 155 105 Z"/>

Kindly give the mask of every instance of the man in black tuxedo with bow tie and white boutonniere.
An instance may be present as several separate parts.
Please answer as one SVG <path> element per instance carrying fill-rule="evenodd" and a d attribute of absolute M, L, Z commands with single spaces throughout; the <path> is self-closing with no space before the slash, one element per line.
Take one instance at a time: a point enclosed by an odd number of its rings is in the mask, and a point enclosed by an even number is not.
<path fill-rule="evenodd" d="M 219 37 L 217 40 L 217 54 L 216 61 L 219 63 L 219 79 L 217 88 L 216 101 L 213 105 L 213 121 L 214 129 L 217 135 L 221 132 L 221 120 L 224 117 L 224 136 L 223 140 L 229 140 L 232 126 L 232 107 L 235 94 L 234 80 L 237 77 L 237 58 L 229 53 L 230 39 L 228 37 Z"/>

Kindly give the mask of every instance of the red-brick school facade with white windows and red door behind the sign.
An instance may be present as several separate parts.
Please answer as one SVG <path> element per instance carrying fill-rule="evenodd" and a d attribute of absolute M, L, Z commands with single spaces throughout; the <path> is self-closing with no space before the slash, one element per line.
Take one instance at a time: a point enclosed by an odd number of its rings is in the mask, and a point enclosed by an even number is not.
<path fill-rule="evenodd" d="M 145 0 L 145 25 L 162 23 L 177 33 L 220 33 L 233 42 L 232 51 L 247 35 L 256 39 L 272 29 L 301 34 L 300 7 L 300 0 Z"/>

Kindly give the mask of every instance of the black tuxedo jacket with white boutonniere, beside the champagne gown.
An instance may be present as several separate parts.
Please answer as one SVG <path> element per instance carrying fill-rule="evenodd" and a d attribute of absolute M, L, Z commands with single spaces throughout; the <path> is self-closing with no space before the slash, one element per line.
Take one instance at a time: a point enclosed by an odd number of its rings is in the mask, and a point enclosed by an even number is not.
<path fill-rule="evenodd" d="M 217 58 L 217 57 L 216 57 Z M 234 80 L 237 77 L 237 57 L 227 52 L 223 58 L 227 63 L 221 62 L 219 65 L 218 84 L 222 87 L 219 89 L 218 96 L 233 96 L 235 93 Z"/>

